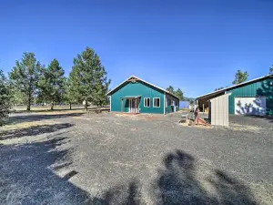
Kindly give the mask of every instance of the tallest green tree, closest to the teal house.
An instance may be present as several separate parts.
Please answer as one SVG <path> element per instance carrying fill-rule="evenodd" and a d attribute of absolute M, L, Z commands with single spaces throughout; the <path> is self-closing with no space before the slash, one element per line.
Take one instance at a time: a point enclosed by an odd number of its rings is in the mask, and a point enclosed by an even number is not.
<path fill-rule="evenodd" d="M 110 80 L 106 77 L 105 67 L 101 65 L 99 56 L 96 52 L 86 47 L 81 55 L 74 58 L 74 66 L 72 67 L 73 75 L 75 75 L 74 84 L 78 87 L 80 100 L 92 102 L 97 106 L 102 106 L 106 102 L 106 91 L 110 84 Z M 74 73 L 75 72 L 75 73 Z M 87 103 L 85 108 L 87 110 Z"/>

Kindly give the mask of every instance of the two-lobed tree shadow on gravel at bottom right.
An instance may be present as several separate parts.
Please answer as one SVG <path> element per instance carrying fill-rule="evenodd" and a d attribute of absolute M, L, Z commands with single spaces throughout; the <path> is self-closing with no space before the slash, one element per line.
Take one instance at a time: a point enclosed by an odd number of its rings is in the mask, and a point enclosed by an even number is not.
<path fill-rule="evenodd" d="M 212 170 L 201 182 L 195 159 L 186 152 L 170 153 L 164 163 L 156 181 L 157 204 L 256 204 L 248 187 L 224 171 Z"/>

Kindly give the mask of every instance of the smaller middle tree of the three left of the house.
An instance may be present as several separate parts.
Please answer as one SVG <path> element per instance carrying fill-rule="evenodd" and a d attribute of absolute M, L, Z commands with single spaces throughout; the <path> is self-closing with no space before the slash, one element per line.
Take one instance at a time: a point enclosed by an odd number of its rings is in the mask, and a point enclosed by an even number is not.
<path fill-rule="evenodd" d="M 65 71 L 60 67 L 59 62 L 53 59 L 48 67 L 41 69 L 41 76 L 38 82 L 40 88 L 38 98 L 40 101 L 51 103 L 51 109 L 57 101 L 61 101 L 65 89 Z"/>

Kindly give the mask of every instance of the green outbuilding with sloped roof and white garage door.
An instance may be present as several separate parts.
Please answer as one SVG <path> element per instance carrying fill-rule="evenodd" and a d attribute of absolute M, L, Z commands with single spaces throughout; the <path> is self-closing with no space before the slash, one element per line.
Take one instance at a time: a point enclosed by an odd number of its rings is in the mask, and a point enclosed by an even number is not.
<path fill-rule="evenodd" d="M 228 96 L 228 113 L 235 115 L 273 115 L 273 75 L 258 77 L 197 97 L 199 108 L 209 107 L 209 100 L 224 94 Z M 221 105 L 219 105 L 221 106 Z"/>

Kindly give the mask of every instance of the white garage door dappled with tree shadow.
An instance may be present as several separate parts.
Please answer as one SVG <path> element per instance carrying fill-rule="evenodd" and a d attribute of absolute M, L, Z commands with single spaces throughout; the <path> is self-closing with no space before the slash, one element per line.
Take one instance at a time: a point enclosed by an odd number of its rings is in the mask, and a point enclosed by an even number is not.
<path fill-rule="evenodd" d="M 236 115 L 266 115 L 266 97 L 235 97 Z"/>

